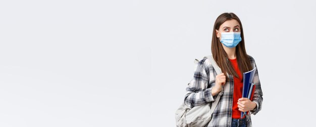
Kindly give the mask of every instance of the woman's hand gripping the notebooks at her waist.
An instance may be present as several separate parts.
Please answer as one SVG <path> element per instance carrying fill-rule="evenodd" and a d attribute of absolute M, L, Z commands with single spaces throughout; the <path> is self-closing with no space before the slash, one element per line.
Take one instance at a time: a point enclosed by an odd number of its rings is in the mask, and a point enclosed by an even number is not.
<path fill-rule="evenodd" d="M 248 98 L 239 98 L 237 104 L 238 110 L 241 112 L 253 110 L 257 105 L 256 103 L 250 101 Z"/>

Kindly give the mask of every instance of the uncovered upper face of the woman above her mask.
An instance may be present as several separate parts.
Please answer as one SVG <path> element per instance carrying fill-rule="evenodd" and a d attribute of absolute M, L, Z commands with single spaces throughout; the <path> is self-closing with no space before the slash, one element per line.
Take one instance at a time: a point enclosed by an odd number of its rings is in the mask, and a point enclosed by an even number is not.
<path fill-rule="evenodd" d="M 222 32 L 240 32 L 240 24 L 235 19 L 227 20 L 220 26 L 218 30 L 220 32 L 216 30 L 216 36 L 220 37 L 221 39 Z"/>

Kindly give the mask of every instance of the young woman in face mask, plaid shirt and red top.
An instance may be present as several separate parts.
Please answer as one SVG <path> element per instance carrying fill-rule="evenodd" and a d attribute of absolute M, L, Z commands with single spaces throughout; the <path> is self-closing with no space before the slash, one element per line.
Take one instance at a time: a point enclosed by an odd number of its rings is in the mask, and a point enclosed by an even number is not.
<path fill-rule="evenodd" d="M 256 114 L 260 111 L 262 91 L 256 70 L 253 99 L 242 98 L 242 73 L 252 70 L 256 65 L 246 53 L 242 25 L 234 13 L 223 13 L 216 19 L 212 54 L 223 73 L 217 74 L 208 58 L 200 60 L 186 88 L 185 104 L 193 107 L 212 103 L 224 86 L 224 93 L 207 126 L 252 126 L 250 115 L 241 118 L 241 112 Z"/>

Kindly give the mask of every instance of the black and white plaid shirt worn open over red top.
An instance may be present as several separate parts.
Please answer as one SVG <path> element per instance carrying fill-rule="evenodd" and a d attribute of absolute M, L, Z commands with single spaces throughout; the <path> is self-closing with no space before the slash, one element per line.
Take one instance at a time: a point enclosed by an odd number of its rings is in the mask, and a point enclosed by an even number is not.
<path fill-rule="evenodd" d="M 251 56 L 249 56 L 249 59 L 252 67 L 256 67 L 254 59 Z M 214 102 L 217 95 L 212 96 L 211 91 L 215 86 L 216 75 L 217 73 L 207 57 L 200 60 L 198 64 L 195 65 L 193 79 L 188 83 L 188 87 L 186 88 L 187 93 L 184 99 L 185 104 L 193 107 L 203 103 Z M 229 80 L 226 80 L 224 93 L 221 96 L 220 101 L 212 114 L 212 119 L 207 126 L 231 126 L 234 78 L 233 75 L 229 75 L 228 77 Z M 251 110 L 250 114 L 255 115 L 261 110 L 263 100 L 257 69 L 253 80 L 256 87 L 252 101 L 257 104 L 257 107 L 254 110 Z M 246 119 L 247 126 L 252 126 L 250 115 L 246 115 Z"/>

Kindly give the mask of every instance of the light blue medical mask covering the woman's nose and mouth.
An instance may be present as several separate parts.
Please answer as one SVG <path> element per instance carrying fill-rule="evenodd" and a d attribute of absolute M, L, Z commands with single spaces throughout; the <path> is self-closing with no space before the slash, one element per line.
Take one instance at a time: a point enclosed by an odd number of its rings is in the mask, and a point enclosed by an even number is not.
<path fill-rule="evenodd" d="M 221 32 L 221 35 L 221 43 L 228 48 L 236 47 L 241 41 L 240 32 Z"/>

